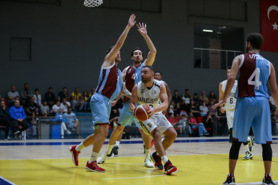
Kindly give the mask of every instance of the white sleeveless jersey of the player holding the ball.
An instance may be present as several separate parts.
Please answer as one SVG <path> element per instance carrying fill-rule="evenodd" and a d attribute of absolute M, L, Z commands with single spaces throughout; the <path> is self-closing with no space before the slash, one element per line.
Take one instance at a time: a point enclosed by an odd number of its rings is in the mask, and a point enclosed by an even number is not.
<path fill-rule="evenodd" d="M 138 105 L 148 105 L 152 108 L 157 108 L 160 105 L 160 84 L 161 81 L 154 79 L 154 85 L 149 90 L 143 82 L 139 82 L 137 85 Z"/>

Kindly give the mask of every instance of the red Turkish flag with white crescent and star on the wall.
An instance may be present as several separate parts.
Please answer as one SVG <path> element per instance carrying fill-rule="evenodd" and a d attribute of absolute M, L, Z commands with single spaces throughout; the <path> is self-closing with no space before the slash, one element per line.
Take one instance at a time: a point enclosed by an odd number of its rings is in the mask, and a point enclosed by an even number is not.
<path fill-rule="evenodd" d="M 261 0 L 261 34 L 264 37 L 262 51 L 278 52 L 278 1 Z"/>

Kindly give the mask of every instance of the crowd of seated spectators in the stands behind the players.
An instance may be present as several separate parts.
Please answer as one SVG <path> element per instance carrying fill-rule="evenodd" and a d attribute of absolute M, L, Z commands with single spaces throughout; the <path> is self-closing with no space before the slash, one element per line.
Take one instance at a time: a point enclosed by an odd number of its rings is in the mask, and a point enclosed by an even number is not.
<path fill-rule="evenodd" d="M 8 101 L 0 96 L 0 125 L 9 125 L 16 138 L 20 138 L 20 133 L 27 130 L 30 125 L 33 131 L 33 138 L 36 138 L 38 117 L 58 116 L 62 121 L 61 138 L 64 138 L 64 133 L 71 134 L 68 129 L 76 132 L 78 127 L 77 119 L 69 119 L 67 117 L 76 116 L 74 112 L 91 112 L 89 102 L 94 93 L 95 88 L 91 88 L 91 93 L 84 90 L 83 94 L 79 93 L 78 88 L 75 88 L 69 95 L 67 88 L 64 87 L 56 97 L 53 93 L 53 88 L 50 87 L 47 93 L 42 96 L 38 88 L 33 93 L 27 83 L 24 84 L 21 93 L 16 91 L 15 86 L 12 86 L 11 91 L 8 92 Z M 217 135 L 228 136 L 226 113 L 222 113 L 220 108 L 213 110 L 212 106 L 216 103 L 218 103 L 218 98 L 213 91 L 207 97 L 205 90 L 202 91 L 200 96 L 197 93 L 192 96 L 189 89 L 185 89 L 185 94 L 180 96 L 178 90 L 174 90 L 174 96 L 165 116 L 176 128 L 178 134 L 186 134 L 188 132 L 189 136 L 207 136 L 209 135 L 208 130 L 212 130 L 213 125 L 216 124 Z M 278 110 L 271 96 L 269 104 L 273 115 L 273 135 L 278 135 Z M 117 124 L 123 105 L 123 99 L 119 99 L 112 108 L 111 129 Z M 26 116 L 32 118 L 25 119 Z M 62 118 L 62 116 L 66 116 L 67 119 Z M 135 124 L 131 125 L 131 132 L 134 135 L 138 134 L 136 128 L 132 129 L 132 126 L 135 127 Z M 5 133 L 8 133 L 9 127 Z M 194 131 L 196 132 L 194 133 Z M 5 140 L 7 139 L 8 134 L 5 134 Z"/>

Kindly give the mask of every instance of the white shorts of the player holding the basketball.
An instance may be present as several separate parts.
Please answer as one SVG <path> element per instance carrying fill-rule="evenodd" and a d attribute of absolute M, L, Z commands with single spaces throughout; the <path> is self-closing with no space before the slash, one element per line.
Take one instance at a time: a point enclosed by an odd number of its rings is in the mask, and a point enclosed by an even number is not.
<path fill-rule="evenodd" d="M 158 114 L 154 114 L 150 119 L 146 121 L 139 121 L 143 132 L 145 132 L 148 136 L 152 137 L 152 131 L 155 128 L 159 129 L 161 138 L 164 138 L 164 132 L 173 127 L 172 124 L 165 118 L 165 116 L 159 112 Z"/>

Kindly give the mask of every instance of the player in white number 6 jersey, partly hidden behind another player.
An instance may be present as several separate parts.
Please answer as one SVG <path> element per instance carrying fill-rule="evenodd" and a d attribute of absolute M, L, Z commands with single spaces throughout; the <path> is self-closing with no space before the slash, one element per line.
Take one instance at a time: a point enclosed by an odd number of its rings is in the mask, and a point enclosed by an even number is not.
<path fill-rule="evenodd" d="M 231 74 L 231 66 L 227 67 L 227 77 L 229 78 L 229 75 Z M 226 88 L 227 79 L 224 80 L 219 84 L 219 101 L 223 99 L 224 91 Z M 230 132 L 230 140 L 229 142 L 233 142 L 233 115 L 235 114 L 235 103 L 237 99 L 235 98 L 235 91 L 237 90 L 238 81 L 235 80 L 235 84 L 233 84 L 233 88 L 231 89 L 231 92 L 229 93 L 229 97 L 225 103 L 224 106 L 220 106 L 221 112 L 224 113 L 226 111 L 227 115 L 227 124 L 229 127 Z M 247 142 L 243 143 L 246 152 L 244 158 L 242 160 L 251 160 L 253 159 L 251 151 L 254 150 L 254 138 L 253 136 L 247 137 Z"/>

